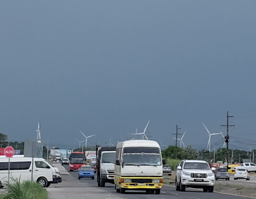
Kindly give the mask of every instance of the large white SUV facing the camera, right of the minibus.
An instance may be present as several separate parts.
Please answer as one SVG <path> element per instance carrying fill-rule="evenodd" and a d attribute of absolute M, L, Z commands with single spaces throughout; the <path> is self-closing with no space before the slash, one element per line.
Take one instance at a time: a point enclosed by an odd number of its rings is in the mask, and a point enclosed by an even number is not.
<path fill-rule="evenodd" d="M 177 191 L 185 191 L 186 187 L 203 188 L 204 192 L 213 192 L 214 173 L 208 163 L 203 160 L 182 160 L 176 168 L 175 185 Z"/>

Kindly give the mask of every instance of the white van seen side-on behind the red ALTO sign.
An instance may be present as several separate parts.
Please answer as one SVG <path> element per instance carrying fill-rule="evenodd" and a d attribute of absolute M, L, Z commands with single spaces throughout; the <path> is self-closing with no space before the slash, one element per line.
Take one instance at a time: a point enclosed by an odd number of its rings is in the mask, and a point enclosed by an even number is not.
<path fill-rule="evenodd" d="M 0 186 L 8 182 L 8 161 L 9 158 L 0 158 Z M 31 180 L 32 157 L 10 158 L 10 182 L 12 178 L 20 181 Z M 61 182 L 59 169 L 53 167 L 44 158 L 34 158 L 33 180 L 42 187 L 49 187 L 51 183 Z"/>

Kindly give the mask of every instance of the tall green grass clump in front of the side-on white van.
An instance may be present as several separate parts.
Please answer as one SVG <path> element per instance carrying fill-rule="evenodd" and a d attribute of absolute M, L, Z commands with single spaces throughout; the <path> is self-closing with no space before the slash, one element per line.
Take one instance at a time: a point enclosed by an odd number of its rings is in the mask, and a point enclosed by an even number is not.
<path fill-rule="evenodd" d="M 16 178 L 6 186 L 7 193 L 1 195 L 0 199 L 47 199 L 46 189 L 36 182 L 24 181 L 21 183 Z"/>

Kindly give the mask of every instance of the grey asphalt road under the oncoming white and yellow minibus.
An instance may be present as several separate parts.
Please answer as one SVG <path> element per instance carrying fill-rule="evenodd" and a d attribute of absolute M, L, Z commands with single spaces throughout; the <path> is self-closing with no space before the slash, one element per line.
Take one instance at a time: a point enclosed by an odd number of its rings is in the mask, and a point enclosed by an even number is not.
<path fill-rule="evenodd" d="M 68 169 L 68 166 L 64 166 Z M 246 197 L 233 196 L 221 193 L 205 193 L 202 189 L 186 188 L 185 192 L 176 191 L 175 187 L 164 185 L 161 194 L 146 194 L 145 191 L 126 191 L 125 194 L 116 193 L 113 184 L 106 183 L 105 188 L 97 186 L 97 179 L 78 179 L 76 171 L 70 175 L 62 176 L 62 183 L 52 184 L 48 191 L 49 199 L 249 199 Z"/>

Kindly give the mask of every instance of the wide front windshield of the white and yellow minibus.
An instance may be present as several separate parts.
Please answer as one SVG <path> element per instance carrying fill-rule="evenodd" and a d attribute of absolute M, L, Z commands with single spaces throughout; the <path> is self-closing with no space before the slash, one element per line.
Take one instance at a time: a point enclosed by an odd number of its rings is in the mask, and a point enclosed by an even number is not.
<path fill-rule="evenodd" d="M 124 148 L 123 165 L 160 166 L 161 156 L 159 148 L 129 147 Z"/>

